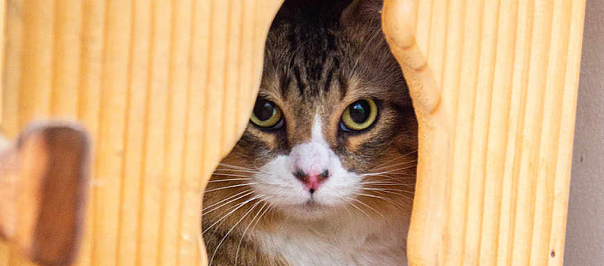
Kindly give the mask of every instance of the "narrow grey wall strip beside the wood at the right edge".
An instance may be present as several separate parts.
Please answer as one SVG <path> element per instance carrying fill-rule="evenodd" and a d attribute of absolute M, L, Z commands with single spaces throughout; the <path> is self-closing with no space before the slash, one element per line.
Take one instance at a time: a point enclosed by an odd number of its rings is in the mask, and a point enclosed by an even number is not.
<path fill-rule="evenodd" d="M 587 0 L 564 265 L 604 265 L 604 0 Z"/>

